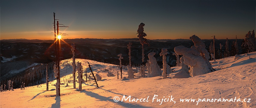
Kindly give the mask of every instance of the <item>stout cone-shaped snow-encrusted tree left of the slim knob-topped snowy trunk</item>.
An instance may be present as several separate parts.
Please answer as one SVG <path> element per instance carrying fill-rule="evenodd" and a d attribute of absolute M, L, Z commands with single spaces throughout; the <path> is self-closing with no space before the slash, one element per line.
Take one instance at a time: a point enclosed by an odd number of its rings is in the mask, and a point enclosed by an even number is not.
<path fill-rule="evenodd" d="M 162 74 L 160 67 L 157 64 L 156 58 L 154 57 L 155 52 L 148 54 L 148 62 L 150 63 L 150 72 L 148 72 L 148 77 L 156 77 Z"/>

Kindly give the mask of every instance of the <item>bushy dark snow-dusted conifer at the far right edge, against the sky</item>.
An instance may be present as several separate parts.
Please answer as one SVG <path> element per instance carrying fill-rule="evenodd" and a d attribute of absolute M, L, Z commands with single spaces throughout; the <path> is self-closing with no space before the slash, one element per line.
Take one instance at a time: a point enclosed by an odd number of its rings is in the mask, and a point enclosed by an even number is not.
<path fill-rule="evenodd" d="M 242 46 L 247 50 L 247 53 L 254 52 L 255 51 L 255 34 L 254 30 L 252 31 L 253 34 L 251 34 L 251 31 L 249 31 L 247 34 L 245 34 L 245 39 L 242 43 Z"/>

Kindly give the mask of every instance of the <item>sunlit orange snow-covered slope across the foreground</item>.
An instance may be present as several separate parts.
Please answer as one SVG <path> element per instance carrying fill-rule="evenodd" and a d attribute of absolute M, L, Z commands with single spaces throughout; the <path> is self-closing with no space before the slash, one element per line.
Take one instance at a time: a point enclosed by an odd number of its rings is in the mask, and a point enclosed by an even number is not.
<path fill-rule="evenodd" d="M 92 80 L 83 83 L 81 92 L 73 89 L 73 83 L 66 86 L 66 79 L 72 80 L 72 61 L 68 59 L 61 61 L 61 83 L 65 80 L 65 84 L 61 85 L 61 96 L 55 97 L 54 80 L 49 84 L 49 91 L 42 84 L 25 87 L 25 90 L 1 92 L 0 107 L 256 107 L 255 52 L 242 54 L 237 60 L 235 57 L 216 60 L 211 64 L 217 71 L 189 78 L 172 78 L 179 72 L 180 66 L 177 66 L 172 67 L 175 71 L 167 74 L 167 79 L 160 76 L 139 78 L 136 73 L 135 78 L 122 80 L 117 76 L 107 77 L 105 69 L 110 71 L 111 67 L 111 72 L 117 75 L 117 65 L 84 59 L 77 61 L 82 62 L 83 72 L 86 69 L 89 73 L 88 61 L 94 73 L 102 77 L 101 81 L 97 81 L 100 88 L 95 88 Z M 127 76 L 127 69 L 123 69 L 123 77 Z M 76 88 L 78 85 L 76 83 Z M 123 97 L 128 99 L 125 101 Z M 120 100 L 115 102 L 118 98 Z M 228 101 L 224 102 L 223 98 Z M 182 102 L 181 99 L 189 99 L 189 102 Z M 191 99 L 195 99 L 194 102 Z"/>

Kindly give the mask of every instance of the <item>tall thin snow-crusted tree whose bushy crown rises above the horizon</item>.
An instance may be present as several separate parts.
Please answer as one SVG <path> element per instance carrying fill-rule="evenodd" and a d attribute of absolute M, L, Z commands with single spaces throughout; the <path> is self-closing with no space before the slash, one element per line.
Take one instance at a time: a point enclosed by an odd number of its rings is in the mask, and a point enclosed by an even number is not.
<path fill-rule="evenodd" d="M 140 23 L 140 24 L 139 24 L 139 28 L 138 28 L 138 30 L 137 30 L 137 34 L 138 34 L 138 37 L 139 37 L 139 41 L 140 41 L 140 44 L 142 45 L 142 63 L 144 62 L 144 59 L 145 59 L 145 57 L 144 57 L 144 55 L 145 55 L 145 54 L 144 54 L 144 44 L 149 45 L 147 39 L 144 38 L 145 36 L 147 36 L 147 34 L 144 33 L 144 28 L 143 28 L 143 26 L 145 26 L 145 24 L 144 24 L 144 23 Z"/>

